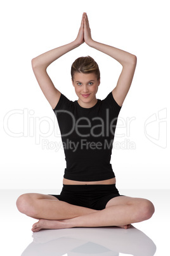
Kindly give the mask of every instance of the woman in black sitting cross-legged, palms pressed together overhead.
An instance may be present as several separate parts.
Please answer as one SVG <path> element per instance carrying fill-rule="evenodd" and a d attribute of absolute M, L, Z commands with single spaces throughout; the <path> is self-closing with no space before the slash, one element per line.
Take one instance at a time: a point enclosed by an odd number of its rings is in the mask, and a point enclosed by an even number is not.
<path fill-rule="evenodd" d="M 46 72 L 54 60 L 84 42 L 122 65 L 116 87 L 102 101 L 96 99 L 100 71 L 91 57 L 81 57 L 72 64 L 77 101 L 59 92 Z M 75 41 L 32 59 L 32 68 L 55 111 L 67 161 L 60 195 L 18 197 L 18 210 L 39 220 L 32 231 L 102 226 L 128 229 L 130 224 L 152 217 L 154 205 L 147 199 L 120 196 L 110 164 L 117 117 L 133 80 L 136 56 L 94 41 L 88 16 L 83 13 Z"/>

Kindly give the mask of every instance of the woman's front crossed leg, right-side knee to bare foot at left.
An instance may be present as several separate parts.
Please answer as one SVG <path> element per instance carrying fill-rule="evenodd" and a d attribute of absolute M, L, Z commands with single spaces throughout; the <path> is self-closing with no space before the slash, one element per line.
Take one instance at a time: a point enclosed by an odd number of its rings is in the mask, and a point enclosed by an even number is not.
<path fill-rule="evenodd" d="M 154 205 L 147 199 L 115 197 L 104 210 L 81 215 L 67 220 L 39 220 L 33 225 L 33 232 L 41 229 L 65 229 L 70 227 L 121 226 L 141 222 L 152 217 Z"/>

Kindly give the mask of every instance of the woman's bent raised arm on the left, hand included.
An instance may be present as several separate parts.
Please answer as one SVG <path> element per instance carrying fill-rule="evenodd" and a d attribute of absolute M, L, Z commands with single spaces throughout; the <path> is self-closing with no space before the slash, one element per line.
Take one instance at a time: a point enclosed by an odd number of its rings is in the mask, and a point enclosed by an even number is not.
<path fill-rule="evenodd" d="M 42 53 L 41 55 L 32 59 L 32 69 L 34 71 L 34 75 L 36 76 L 37 82 L 39 83 L 44 96 L 53 109 L 58 103 L 61 93 L 53 85 L 53 82 L 51 81 L 51 78 L 49 78 L 46 69 L 53 61 L 84 43 L 83 26 L 84 13 L 82 15 L 81 27 L 75 41 L 50 50 L 49 52 Z"/>

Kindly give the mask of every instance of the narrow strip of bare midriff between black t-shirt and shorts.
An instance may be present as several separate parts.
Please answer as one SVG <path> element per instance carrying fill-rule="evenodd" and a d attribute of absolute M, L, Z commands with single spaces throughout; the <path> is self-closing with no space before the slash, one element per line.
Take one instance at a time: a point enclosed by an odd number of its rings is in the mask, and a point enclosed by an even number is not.
<path fill-rule="evenodd" d="M 115 184 L 115 178 L 100 181 L 75 181 L 63 178 L 64 185 L 110 185 Z"/>

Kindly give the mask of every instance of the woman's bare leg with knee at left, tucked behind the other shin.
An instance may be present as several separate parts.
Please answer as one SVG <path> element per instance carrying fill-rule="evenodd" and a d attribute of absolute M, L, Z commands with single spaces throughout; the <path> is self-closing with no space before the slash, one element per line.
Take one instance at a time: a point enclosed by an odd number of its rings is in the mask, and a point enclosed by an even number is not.
<path fill-rule="evenodd" d="M 54 196 L 35 193 L 18 197 L 16 206 L 21 213 L 38 220 L 63 220 L 96 212 L 93 209 L 59 201 Z"/>

